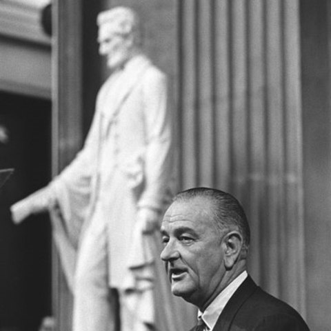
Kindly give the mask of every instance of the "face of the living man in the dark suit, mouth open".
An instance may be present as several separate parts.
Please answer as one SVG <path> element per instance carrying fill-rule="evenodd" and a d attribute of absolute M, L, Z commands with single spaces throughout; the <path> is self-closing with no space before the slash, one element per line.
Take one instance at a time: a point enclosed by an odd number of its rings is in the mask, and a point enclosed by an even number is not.
<path fill-rule="evenodd" d="M 176 201 L 161 226 L 161 259 L 172 294 L 199 307 L 221 292 L 225 274 L 223 236 L 211 211 L 212 203 L 202 197 Z"/>

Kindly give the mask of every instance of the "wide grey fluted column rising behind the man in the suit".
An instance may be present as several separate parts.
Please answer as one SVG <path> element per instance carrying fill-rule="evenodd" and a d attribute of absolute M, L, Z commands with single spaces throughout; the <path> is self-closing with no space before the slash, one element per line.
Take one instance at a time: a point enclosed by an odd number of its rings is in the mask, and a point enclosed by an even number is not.
<path fill-rule="evenodd" d="M 252 274 L 304 314 L 299 1 L 182 0 L 178 17 L 181 186 L 239 198 Z"/>

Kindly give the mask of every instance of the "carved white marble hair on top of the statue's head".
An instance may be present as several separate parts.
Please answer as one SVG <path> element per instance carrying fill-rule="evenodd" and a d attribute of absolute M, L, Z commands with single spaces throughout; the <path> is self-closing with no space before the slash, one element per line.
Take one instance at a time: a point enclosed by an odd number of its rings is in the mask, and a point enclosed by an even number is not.
<path fill-rule="evenodd" d="M 105 23 L 111 23 L 114 30 L 123 37 L 134 37 L 134 43 L 141 42 L 141 27 L 139 17 L 134 10 L 128 7 L 114 7 L 100 12 L 97 17 L 97 24 L 101 26 Z"/>

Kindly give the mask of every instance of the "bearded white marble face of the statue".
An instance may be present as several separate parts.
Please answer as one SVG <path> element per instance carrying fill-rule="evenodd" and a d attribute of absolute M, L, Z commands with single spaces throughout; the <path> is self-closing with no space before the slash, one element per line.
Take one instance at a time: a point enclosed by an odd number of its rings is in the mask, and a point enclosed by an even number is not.
<path fill-rule="evenodd" d="M 132 43 L 117 33 L 112 23 L 103 23 L 99 27 L 99 53 L 107 57 L 110 69 L 116 69 L 128 61 Z"/>

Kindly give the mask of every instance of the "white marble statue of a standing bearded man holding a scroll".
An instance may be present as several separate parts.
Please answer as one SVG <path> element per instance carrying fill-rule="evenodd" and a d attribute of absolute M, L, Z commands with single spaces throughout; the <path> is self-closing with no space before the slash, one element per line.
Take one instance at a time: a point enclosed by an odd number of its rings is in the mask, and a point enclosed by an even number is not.
<path fill-rule="evenodd" d="M 119 294 L 121 330 L 150 330 L 152 253 L 143 237 L 159 228 L 170 197 L 167 79 L 141 52 L 130 8 L 101 12 L 97 23 L 99 52 L 112 74 L 99 91 L 86 143 L 47 188 L 13 205 L 12 217 L 19 222 L 51 208 L 74 292 L 74 331 L 119 330 L 117 295 L 109 288 Z"/>

